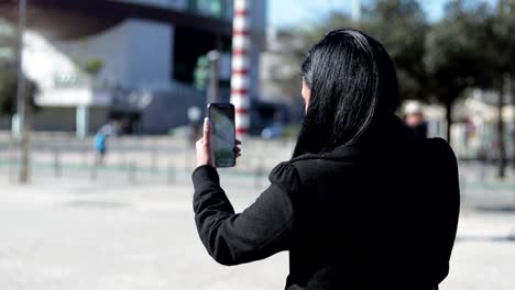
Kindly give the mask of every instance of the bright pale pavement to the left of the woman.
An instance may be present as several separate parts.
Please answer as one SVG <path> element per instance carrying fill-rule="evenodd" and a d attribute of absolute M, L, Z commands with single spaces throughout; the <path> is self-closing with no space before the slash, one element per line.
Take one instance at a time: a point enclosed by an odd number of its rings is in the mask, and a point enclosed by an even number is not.
<path fill-rule="evenodd" d="M 0 193 L 0 289 L 281 289 L 286 255 L 227 268 L 195 230 L 189 186 L 41 181 Z M 242 209 L 255 192 L 232 196 Z"/>

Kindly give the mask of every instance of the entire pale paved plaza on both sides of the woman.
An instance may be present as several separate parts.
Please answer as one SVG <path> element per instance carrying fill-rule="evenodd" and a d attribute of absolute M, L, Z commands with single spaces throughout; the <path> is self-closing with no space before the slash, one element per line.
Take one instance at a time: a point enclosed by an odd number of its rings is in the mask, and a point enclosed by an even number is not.
<path fill-rule="evenodd" d="M 127 167 L 123 155 L 112 153 L 95 180 L 79 155 L 65 158 L 56 178 L 53 155 L 40 154 L 34 183 L 26 187 L 10 183 L 8 161 L 0 160 L 0 289 L 283 289 L 284 253 L 238 267 L 208 257 L 193 219 L 186 161 L 191 152 L 178 148 L 174 155 L 154 156 L 157 166 L 149 152 L 125 153 L 144 165 L 136 171 Z M 273 163 L 259 157 L 276 163 L 289 152 L 287 146 L 261 146 L 253 149 L 252 161 L 243 159 L 251 166 L 222 172 L 237 210 L 266 186 Z M 172 172 L 166 165 L 176 156 L 179 165 Z M 463 211 L 451 272 L 441 289 L 513 290 L 514 178 L 496 180 L 492 167 L 483 176 L 474 164 L 460 171 Z"/>

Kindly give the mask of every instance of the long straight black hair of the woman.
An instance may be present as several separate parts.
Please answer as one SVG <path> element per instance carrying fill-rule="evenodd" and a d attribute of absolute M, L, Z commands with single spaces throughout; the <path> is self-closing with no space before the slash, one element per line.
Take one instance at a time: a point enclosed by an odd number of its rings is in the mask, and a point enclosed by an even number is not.
<path fill-rule="evenodd" d="M 302 75 L 311 97 L 294 157 L 358 142 L 397 108 L 395 67 L 383 45 L 360 31 L 328 33 L 308 52 Z"/>

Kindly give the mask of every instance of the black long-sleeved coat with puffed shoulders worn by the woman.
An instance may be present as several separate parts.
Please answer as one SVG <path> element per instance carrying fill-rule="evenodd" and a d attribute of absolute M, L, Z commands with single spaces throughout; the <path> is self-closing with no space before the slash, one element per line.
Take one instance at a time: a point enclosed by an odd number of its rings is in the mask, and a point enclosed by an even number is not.
<path fill-rule="evenodd" d="M 220 264 L 289 250 L 286 289 L 436 289 L 449 271 L 459 215 L 447 142 L 399 120 L 371 141 L 280 164 L 235 214 L 217 170 L 193 175 L 198 233 Z"/>

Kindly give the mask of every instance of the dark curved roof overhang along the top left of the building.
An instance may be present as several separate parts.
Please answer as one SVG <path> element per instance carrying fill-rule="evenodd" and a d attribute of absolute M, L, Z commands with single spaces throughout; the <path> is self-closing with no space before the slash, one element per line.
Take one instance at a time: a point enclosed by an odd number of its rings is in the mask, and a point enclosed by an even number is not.
<path fill-rule="evenodd" d="M 220 1 L 221 9 L 213 15 L 202 13 L 195 1 L 30 0 L 28 29 L 47 37 L 69 40 L 97 34 L 124 20 L 140 19 L 229 37 L 232 31 L 230 2 Z M 0 15 L 17 22 L 18 1 L 0 1 Z"/>

